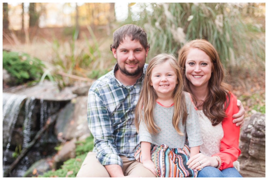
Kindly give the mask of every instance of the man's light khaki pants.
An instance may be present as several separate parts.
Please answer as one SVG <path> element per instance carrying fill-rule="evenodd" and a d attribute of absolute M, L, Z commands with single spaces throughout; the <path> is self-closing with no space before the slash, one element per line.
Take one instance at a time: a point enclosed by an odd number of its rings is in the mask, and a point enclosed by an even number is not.
<path fill-rule="evenodd" d="M 127 157 L 120 156 L 123 161 L 124 175 L 133 175 L 137 177 L 155 177 L 155 175 L 140 162 L 136 160 L 129 161 Z M 85 157 L 76 177 L 110 177 L 106 168 L 96 158 L 95 152 L 89 152 Z"/>

